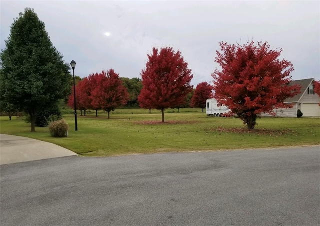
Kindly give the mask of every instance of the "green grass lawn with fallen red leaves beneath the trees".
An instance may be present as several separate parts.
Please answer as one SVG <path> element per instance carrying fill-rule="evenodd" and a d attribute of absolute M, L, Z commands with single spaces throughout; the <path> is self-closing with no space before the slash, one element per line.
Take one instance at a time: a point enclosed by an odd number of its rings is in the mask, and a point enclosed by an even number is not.
<path fill-rule="evenodd" d="M 110 119 L 102 112 L 97 118 L 94 112 L 78 114 L 78 131 L 72 114 L 63 118 L 69 124 L 64 138 L 50 137 L 47 128 L 30 132 L 30 124 L 15 117 L 0 117 L 0 133 L 51 142 L 83 156 L 320 144 L 319 118 L 261 118 L 253 131 L 238 118 L 210 117 L 201 109 L 168 109 L 165 123 L 156 110 L 116 109 Z"/>

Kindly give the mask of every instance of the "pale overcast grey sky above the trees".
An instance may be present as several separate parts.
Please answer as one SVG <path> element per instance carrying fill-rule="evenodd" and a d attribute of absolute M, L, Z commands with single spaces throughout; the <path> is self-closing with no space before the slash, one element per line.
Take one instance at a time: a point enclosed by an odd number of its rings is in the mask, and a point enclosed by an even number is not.
<path fill-rule="evenodd" d="M 113 68 L 141 78 L 153 47 L 179 50 L 192 70 L 191 84 L 211 82 L 219 42 L 267 41 L 291 61 L 293 80 L 320 79 L 320 1 L 244 0 L 1 0 L 0 48 L 13 18 L 33 8 L 75 75 Z"/>

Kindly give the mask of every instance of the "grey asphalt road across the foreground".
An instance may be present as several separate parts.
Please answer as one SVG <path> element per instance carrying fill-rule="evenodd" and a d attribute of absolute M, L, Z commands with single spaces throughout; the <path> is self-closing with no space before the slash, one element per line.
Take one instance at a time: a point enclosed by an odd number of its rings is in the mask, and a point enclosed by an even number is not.
<path fill-rule="evenodd" d="M 0 166 L 1 226 L 316 226 L 320 147 Z"/>

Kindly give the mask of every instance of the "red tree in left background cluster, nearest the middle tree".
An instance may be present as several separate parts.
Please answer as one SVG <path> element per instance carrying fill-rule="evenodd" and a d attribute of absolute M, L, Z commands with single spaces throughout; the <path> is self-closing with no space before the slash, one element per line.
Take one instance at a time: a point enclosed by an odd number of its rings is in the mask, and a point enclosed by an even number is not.
<path fill-rule="evenodd" d="M 110 111 L 124 105 L 129 100 L 129 94 L 122 85 L 119 74 L 112 68 L 106 72 L 96 73 L 94 77 L 96 85 L 91 90 L 91 104 L 94 109 L 107 111 L 110 118 Z"/>

